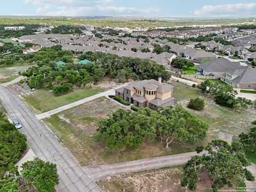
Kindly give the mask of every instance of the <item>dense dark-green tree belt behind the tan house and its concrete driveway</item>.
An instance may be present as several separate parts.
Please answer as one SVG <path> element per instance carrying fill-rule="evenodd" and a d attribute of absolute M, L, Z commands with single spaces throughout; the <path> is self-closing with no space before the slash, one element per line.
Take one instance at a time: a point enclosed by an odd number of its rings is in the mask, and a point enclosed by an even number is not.
<path fill-rule="evenodd" d="M 119 82 L 129 78 L 137 80 L 162 77 L 164 81 L 170 78 L 165 68 L 155 61 L 118 57 L 115 54 L 102 52 L 86 52 L 79 59 L 87 59 L 91 62 L 87 65 L 79 65 L 74 63 L 73 53 L 61 50 L 59 45 L 43 48 L 35 53 L 23 54 L 21 59 L 37 64 L 21 73 L 28 77 L 28 85 L 31 88 L 46 87 L 56 94 L 65 93 L 73 86 L 97 83 L 105 76 L 117 78 Z M 56 64 L 58 60 L 66 64 L 58 66 Z"/>

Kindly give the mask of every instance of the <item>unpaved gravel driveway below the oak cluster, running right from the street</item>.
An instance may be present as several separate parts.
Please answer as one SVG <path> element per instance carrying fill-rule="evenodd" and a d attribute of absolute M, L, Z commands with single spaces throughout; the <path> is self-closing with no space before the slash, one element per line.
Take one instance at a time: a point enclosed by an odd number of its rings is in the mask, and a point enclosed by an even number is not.
<path fill-rule="evenodd" d="M 201 155 L 205 153 L 206 152 L 203 152 L 201 153 Z M 118 175 L 123 173 L 138 172 L 159 169 L 162 167 L 182 165 L 187 163 L 187 161 L 193 155 L 198 154 L 196 152 L 191 152 L 163 157 L 147 158 L 123 163 L 83 167 L 83 170 L 87 173 L 87 175 L 89 175 L 89 177 L 93 181 L 99 181 L 110 175 Z"/>

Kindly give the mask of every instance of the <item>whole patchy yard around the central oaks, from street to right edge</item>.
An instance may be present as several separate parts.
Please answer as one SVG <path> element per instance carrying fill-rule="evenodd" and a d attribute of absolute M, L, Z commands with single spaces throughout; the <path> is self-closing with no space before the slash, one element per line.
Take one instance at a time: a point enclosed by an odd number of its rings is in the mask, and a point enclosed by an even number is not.
<path fill-rule="evenodd" d="M 157 157 L 186 153 L 195 150 L 197 145 L 203 145 L 218 138 L 219 131 L 233 134 L 235 137 L 242 131 L 250 129 L 256 111 L 234 111 L 215 104 L 210 96 L 200 95 L 199 90 L 178 82 L 170 82 L 174 86 L 174 98 L 177 104 L 187 108 L 189 99 L 197 96 L 205 100 L 203 111 L 194 111 L 199 118 L 210 125 L 207 138 L 197 143 L 174 141 L 170 149 L 159 140 L 146 141 L 137 149 L 124 148 L 109 150 L 94 140 L 98 122 L 107 118 L 113 111 L 123 108 L 107 98 L 99 98 L 83 105 L 62 111 L 45 119 L 56 137 L 71 151 L 81 166 L 91 166 L 106 163 L 132 161 L 141 158 Z"/>

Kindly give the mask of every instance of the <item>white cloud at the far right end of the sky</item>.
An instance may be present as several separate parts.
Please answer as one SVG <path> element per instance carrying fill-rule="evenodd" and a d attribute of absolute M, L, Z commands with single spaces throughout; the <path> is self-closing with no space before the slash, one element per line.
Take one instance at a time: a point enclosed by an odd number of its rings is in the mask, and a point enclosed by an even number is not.
<path fill-rule="evenodd" d="M 231 16 L 255 16 L 256 3 L 239 3 L 226 5 L 204 5 L 201 9 L 195 10 L 196 16 L 216 16 L 216 17 L 231 17 Z"/>

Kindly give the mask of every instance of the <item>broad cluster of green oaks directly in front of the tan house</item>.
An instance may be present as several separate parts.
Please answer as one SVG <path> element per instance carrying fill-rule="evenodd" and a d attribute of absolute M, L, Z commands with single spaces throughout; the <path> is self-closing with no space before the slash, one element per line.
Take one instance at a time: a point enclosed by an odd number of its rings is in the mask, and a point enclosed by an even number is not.
<path fill-rule="evenodd" d="M 119 109 L 99 123 L 98 141 L 111 149 L 138 147 L 146 139 L 165 140 L 166 148 L 173 139 L 194 142 L 206 137 L 208 125 L 181 106 L 158 111 L 140 108 L 136 112 Z"/>

